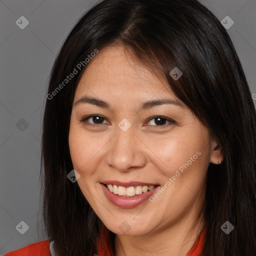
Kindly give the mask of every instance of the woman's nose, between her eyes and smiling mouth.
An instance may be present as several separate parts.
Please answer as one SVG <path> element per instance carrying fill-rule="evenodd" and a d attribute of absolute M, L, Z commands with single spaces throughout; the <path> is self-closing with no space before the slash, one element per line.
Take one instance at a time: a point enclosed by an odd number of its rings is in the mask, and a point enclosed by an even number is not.
<path fill-rule="evenodd" d="M 108 146 L 105 161 L 109 167 L 129 172 L 146 164 L 146 152 L 143 150 L 146 147 L 131 127 L 126 131 L 117 127 Z"/>

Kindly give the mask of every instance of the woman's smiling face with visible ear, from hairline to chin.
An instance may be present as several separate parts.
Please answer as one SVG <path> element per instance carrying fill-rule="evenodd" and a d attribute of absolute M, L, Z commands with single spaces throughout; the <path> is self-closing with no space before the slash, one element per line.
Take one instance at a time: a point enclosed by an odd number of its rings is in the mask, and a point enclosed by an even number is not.
<path fill-rule="evenodd" d="M 105 47 L 87 65 L 69 130 L 83 195 L 117 234 L 188 228 L 204 200 L 207 166 L 221 160 L 217 143 L 168 85 L 126 57 L 122 46 Z M 162 99 L 169 103 L 145 104 Z"/>

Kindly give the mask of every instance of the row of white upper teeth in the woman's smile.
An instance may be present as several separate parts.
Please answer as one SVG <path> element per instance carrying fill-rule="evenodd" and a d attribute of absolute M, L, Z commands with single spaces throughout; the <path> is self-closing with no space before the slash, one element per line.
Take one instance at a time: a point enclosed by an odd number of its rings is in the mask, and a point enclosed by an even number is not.
<path fill-rule="evenodd" d="M 141 194 L 142 192 L 145 193 L 147 190 L 151 190 L 154 187 L 155 187 L 154 185 L 150 185 L 150 186 L 139 185 L 135 187 L 134 186 L 124 187 L 124 186 L 107 184 L 107 188 L 114 194 L 127 195 L 127 196 L 134 196 L 135 194 Z"/>

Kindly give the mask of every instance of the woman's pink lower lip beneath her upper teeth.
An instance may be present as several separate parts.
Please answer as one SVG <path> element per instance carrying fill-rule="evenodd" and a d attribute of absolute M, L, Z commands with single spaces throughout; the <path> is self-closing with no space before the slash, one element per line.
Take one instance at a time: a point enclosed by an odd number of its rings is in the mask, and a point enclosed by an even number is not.
<path fill-rule="evenodd" d="M 100 183 L 103 192 L 106 196 L 106 198 L 113 203 L 116 206 L 123 207 L 123 208 L 132 208 L 136 207 L 139 204 L 142 204 L 145 202 L 158 188 L 158 186 L 154 187 L 150 191 L 147 191 L 145 193 L 142 192 L 142 194 L 138 194 L 132 197 L 126 197 L 118 194 L 114 194 L 108 190 L 108 188 L 103 184 Z"/>

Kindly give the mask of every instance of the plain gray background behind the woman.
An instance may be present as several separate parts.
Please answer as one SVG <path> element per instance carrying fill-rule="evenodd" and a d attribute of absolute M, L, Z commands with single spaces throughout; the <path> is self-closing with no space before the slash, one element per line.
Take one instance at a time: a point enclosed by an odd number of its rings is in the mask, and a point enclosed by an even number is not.
<path fill-rule="evenodd" d="M 41 236 L 40 222 L 37 233 L 40 139 L 47 82 L 63 40 L 95 2 L 0 0 L 0 255 L 47 239 Z M 256 0 L 201 2 L 220 21 L 225 16 L 234 21 L 227 31 L 251 94 L 256 93 Z M 20 16 L 29 21 L 24 29 L 15 23 Z M 24 234 L 16 229 L 20 221 L 29 226 Z"/>

